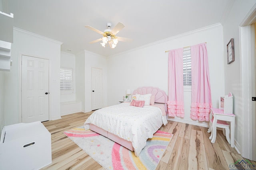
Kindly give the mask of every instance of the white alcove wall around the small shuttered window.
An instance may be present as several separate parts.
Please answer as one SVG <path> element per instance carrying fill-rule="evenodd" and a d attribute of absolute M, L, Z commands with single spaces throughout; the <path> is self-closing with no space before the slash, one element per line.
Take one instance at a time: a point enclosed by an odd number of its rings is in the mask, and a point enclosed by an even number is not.
<path fill-rule="evenodd" d="M 74 91 L 71 94 L 61 94 L 60 102 L 76 101 L 76 56 L 74 54 L 60 53 L 60 67 L 72 68 L 73 69 L 73 87 Z"/>

